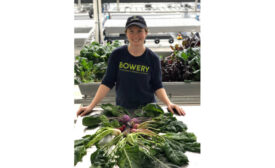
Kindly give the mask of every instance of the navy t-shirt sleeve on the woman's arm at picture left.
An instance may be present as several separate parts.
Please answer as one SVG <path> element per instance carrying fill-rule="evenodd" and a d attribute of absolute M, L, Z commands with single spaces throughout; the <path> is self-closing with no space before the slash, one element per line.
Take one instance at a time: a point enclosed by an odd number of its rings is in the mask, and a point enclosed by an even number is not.
<path fill-rule="evenodd" d="M 112 52 L 108 59 L 108 66 L 105 72 L 105 75 L 102 79 L 101 84 L 106 85 L 110 89 L 112 89 L 116 82 L 116 74 L 117 74 L 117 61 L 116 61 L 116 54 Z"/>

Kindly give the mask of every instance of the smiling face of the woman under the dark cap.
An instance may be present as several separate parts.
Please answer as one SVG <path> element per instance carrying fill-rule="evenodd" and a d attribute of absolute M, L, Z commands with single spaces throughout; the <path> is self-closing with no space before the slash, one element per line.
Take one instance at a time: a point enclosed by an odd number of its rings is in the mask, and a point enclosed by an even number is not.
<path fill-rule="evenodd" d="M 138 26 L 131 26 L 126 31 L 129 43 L 132 45 L 143 45 L 147 36 L 145 29 Z"/>

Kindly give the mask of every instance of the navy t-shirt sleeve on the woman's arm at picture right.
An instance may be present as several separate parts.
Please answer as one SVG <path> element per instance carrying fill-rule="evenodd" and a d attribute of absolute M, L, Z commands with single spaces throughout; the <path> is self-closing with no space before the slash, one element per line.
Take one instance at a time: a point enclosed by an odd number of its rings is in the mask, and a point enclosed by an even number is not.
<path fill-rule="evenodd" d="M 162 77 L 161 77 L 161 65 L 158 56 L 156 55 L 154 59 L 154 67 L 152 73 L 152 88 L 154 92 L 160 88 L 163 88 Z"/>

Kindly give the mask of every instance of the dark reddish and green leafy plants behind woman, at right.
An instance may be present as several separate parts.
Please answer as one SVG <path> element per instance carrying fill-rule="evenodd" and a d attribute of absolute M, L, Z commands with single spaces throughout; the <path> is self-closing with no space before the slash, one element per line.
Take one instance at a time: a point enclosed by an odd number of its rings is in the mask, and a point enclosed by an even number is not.
<path fill-rule="evenodd" d="M 162 81 L 200 81 L 200 36 L 184 36 L 181 44 L 161 60 Z"/>

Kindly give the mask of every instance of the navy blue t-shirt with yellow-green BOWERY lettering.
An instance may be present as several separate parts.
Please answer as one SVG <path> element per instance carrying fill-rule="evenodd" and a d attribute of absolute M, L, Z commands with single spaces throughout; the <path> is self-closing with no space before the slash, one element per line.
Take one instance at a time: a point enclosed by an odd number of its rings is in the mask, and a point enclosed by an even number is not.
<path fill-rule="evenodd" d="M 132 56 L 128 46 L 115 49 L 109 57 L 102 84 L 116 86 L 116 104 L 134 109 L 156 102 L 154 93 L 162 88 L 159 57 L 146 48 L 138 57 Z"/>

